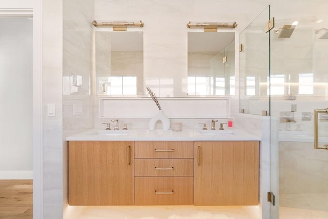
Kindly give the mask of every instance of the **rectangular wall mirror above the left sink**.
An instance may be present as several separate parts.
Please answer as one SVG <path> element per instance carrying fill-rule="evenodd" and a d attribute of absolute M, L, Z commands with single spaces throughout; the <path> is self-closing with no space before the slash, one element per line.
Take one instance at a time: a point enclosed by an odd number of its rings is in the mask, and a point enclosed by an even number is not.
<path fill-rule="evenodd" d="M 95 32 L 97 95 L 144 95 L 142 32 Z"/>

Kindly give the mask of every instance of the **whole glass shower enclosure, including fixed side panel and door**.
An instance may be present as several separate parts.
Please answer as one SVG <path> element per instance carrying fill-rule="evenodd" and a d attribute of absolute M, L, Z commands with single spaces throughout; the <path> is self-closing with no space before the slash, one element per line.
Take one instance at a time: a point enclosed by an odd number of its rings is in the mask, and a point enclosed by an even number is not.
<path fill-rule="evenodd" d="M 328 218 L 328 1 L 274 1 L 240 43 L 240 109 L 270 115 L 271 218 Z"/>

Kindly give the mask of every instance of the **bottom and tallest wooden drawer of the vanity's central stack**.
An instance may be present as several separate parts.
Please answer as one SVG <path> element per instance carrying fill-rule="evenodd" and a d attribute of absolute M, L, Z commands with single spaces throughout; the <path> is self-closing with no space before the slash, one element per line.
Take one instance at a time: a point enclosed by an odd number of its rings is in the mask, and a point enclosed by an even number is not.
<path fill-rule="evenodd" d="M 193 205 L 193 177 L 135 177 L 135 205 Z"/>

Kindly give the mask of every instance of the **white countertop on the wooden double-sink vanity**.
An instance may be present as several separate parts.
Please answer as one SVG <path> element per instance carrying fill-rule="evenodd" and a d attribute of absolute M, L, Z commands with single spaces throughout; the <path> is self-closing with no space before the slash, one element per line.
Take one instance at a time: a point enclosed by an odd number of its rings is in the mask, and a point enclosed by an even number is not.
<path fill-rule="evenodd" d="M 224 131 L 208 130 L 202 134 L 199 129 L 172 130 L 148 130 L 131 129 L 124 133 L 122 130 L 99 130 L 90 129 L 66 137 L 66 141 L 260 141 L 261 138 L 238 129 Z"/>

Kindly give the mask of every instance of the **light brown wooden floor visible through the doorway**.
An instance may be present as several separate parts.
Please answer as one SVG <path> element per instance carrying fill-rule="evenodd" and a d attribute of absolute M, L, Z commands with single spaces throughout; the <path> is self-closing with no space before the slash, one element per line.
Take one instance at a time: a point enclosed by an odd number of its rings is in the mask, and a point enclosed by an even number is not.
<path fill-rule="evenodd" d="M 0 180 L 0 218 L 33 218 L 32 180 Z"/>

